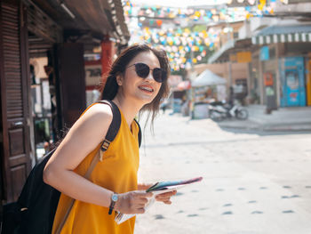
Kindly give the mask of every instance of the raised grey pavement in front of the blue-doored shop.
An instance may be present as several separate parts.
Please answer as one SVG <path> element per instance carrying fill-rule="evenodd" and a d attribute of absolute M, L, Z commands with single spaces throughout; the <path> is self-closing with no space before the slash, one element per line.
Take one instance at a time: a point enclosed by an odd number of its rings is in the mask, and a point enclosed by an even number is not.
<path fill-rule="evenodd" d="M 219 122 L 222 128 L 235 128 L 260 131 L 310 131 L 311 107 L 291 107 L 266 113 L 266 106 L 250 105 L 247 120 L 228 119 Z"/>

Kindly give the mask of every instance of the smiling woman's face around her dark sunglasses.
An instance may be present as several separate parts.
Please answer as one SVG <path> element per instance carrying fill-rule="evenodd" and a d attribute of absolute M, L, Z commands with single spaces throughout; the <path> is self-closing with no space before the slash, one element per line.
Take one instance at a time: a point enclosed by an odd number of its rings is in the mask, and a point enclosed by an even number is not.
<path fill-rule="evenodd" d="M 142 78 L 136 74 L 135 63 L 145 63 L 150 68 L 148 77 Z M 140 101 L 145 105 L 150 103 L 159 93 L 161 83 L 156 82 L 152 75 L 153 69 L 161 68 L 160 62 L 153 52 L 140 52 L 129 62 L 124 72 L 124 77 L 119 77 L 121 82 L 119 90 L 124 98 Z M 121 84 L 120 84 L 121 83 Z"/>

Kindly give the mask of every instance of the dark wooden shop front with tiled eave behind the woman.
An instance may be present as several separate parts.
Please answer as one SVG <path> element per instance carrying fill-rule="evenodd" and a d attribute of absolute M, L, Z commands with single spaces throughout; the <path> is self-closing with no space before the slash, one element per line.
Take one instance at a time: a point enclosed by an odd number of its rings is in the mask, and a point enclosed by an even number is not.
<path fill-rule="evenodd" d="M 84 54 L 108 45 L 107 38 L 122 46 L 129 39 L 121 1 L 75 0 L 66 11 L 62 5 L 0 1 L 3 204 L 18 198 L 36 160 L 85 109 Z"/>

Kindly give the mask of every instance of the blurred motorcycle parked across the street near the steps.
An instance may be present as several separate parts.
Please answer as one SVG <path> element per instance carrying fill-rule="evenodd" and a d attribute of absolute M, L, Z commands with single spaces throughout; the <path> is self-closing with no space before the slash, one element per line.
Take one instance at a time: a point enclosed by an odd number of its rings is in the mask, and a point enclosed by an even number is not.
<path fill-rule="evenodd" d="M 209 113 L 212 120 L 219 122 L 226 118 L 236 117 L 237 119 L 247 119 L 249 113 L 247 109 L 243 109 L 238 105 L 228 105 L 221 101 L 210 103 Z"/>

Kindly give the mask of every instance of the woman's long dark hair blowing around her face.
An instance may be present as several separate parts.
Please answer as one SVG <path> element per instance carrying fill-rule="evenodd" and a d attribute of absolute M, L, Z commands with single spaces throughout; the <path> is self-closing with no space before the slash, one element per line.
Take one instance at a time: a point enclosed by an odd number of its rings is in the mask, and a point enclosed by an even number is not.
<path fill-rule="evenodd" d="M 108 72 L 107 82 L 102 93 L 100 95 L 101 100 L 113 100 L 116 97 L 119 85 L 116 83 L 116 77 L 120 74 L 124 74 L 125 68 L 128 66 L 130 61 L 134 59 L 140 52 L 153 52 L 156 58 L 159 60 L 161 69 L 164 70 L 166 77 L 168 78 L 171 73 L 169 61 L 167 59 L 166 52 L 162 50 L 156 50 L 148 46 L 147 44 L 133 44 L 132 46 L 124 49 L 123 52 L 117 57 L 116 61 L 111 65 L 110 71 Z M 146 104 L 140 111 L 149 110 L 151 114 L 151 123 L 153 123 L 156 114 L 159 112 L 160 103 L 164 98 L 167 98 L 169 94 L 169 86 L 167 78 L 161 85 L 159 93 L 156 98 L 150 103 Z M 148 115 L 148 118 L 150 114 Z"/>

